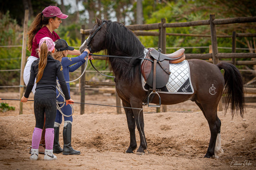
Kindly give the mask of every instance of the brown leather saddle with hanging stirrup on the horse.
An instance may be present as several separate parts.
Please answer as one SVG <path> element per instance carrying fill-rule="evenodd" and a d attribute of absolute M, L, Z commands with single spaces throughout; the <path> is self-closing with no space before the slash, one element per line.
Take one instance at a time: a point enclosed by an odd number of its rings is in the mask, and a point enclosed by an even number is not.
<path fill-rule="evenodd" d="M 149 105 L 149 96 L 152 93 L 158 94 L 156 89 L 160 89 L 164 87 L 171 74 L 170 72 L 170 64 L 180 63 L 185 59 L 184 54 L 185 49 L 181 48 L 174 53 L 171 54 L 162 54 L 154 48 L 148 48 L 148 53 L 144 61 L 141 64 L 141 73 L 146 83 L 152 87 L 152 92 L 147 97 L 147 105 Z M 154 105 L 160 107 L 161 98 L 159 97 L 159 105 Z"/>

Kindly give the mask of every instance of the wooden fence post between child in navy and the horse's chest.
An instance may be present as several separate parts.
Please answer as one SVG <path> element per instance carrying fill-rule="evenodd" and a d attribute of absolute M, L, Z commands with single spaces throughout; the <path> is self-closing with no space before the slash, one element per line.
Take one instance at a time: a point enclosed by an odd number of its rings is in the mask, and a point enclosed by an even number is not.
<path fill-rule="evenodd" d="M 85 29 L 85 25 L 82 25 L 82 29 Z M 81 45 L 84 43 L 85 41 L 85 34 L 82 34 L 81 36 Z M 81 74 L 83 73 L 85 69 L 85 63 L 81 66 Z M 85 74 L 81 77 L 81 81 L 80 81 L 80 91 L 81 91 L 81 103 L 85 103 Z M 85 104 L 80 104 L 80 114 L 84 114 L 85 113 Z"/>

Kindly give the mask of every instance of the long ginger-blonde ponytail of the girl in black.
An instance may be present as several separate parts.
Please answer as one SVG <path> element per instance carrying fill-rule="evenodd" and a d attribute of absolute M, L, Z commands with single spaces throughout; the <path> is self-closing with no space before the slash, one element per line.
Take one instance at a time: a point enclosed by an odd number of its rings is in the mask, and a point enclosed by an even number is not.
<path fill-rule="evenodd" d="M 44 41 L 44 43 L 39 48 L 40 48 L 40 55 L 39 55 L 40 59 L 39 59 L 39 63 L 38 63 L 38 72 L 37 72 L 36 83 L 38 83 L 38 81 L 40 81 L 40 79 L 43 76 L 44 69 L 47 65 L 47 56 L 52 54 L 50 51 L 48 51 L 46 41 Z"/>

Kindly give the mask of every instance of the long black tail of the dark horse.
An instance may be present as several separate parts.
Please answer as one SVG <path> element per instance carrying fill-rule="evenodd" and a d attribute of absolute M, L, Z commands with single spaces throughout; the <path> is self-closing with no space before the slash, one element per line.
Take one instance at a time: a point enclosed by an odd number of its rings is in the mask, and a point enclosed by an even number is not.
<path fill-rule="evenodd" d="M 241 117 L 244 116 L 244 85 L 239 70 L 232 64 L 220 62 L 217 64 L 219 69 L 224 69 L 225 90 L 226 93 L 226 111 L 231 103 L 232 118 L 234 113 L 240 111 Z"/>

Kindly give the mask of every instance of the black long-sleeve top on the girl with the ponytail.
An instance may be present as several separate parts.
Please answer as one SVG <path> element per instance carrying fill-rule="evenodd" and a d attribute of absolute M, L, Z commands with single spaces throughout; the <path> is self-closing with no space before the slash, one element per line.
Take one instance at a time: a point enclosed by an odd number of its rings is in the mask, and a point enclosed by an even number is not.
<path fill-rule="evenodd" d="M 31 65 L 29 82 L 24 93 L 24 97 L 26 98 L 29 97 L 29 94 L 33 89 L 35 79 L 37 77 L 39 59 L 40 58 L 35 60 Z M 65 99 L 69 100 L 70 95 L 68 92 L 66 81 L 63 76 L 63 68 L 61 62 L 55 60 L 50 55 L 47 57 L 47 65 L 44 69 L 43 76 L 40 79 L 40 81 L 37 82 L 35 94 L 54 93 L 56 95 L 56 77 L 58 77 L 59 79 L 59 83 L 65 95 Z"/>

